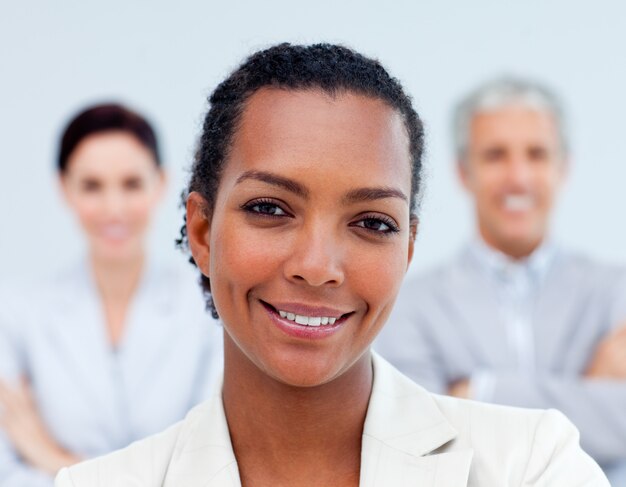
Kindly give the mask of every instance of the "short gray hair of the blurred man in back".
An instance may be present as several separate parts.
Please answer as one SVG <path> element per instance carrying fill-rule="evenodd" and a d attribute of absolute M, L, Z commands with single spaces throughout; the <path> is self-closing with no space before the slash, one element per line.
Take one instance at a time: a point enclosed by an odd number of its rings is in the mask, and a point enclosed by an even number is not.
<path fill-rule="evenodd" d="M 550 113 L 559 133 L 561 149 L 567 152 L 565 119 L 559 98 L 550 89 L 535 81 L 507 76 L 483 83 L 456 105 L 453 137 L 458 161 L 463 161 L 467 155 L 472 119 L 479 113 L 511 105 Z"/>

